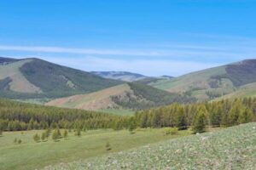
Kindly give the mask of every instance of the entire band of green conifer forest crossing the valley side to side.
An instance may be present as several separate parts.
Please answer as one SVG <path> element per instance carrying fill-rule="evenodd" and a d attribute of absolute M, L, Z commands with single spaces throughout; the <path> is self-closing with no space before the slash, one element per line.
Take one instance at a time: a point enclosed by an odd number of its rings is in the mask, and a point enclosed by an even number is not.
<path fill-rule="evenodd" d="M 96 111 L 63 109 L 0 99 L 1 131 L 47 128 L 96 129 L 136 127 L 230 127 L 256 120 L 256 98 L 224 99 L 189 105 L 172 104 L 137 111 L 135 116 L 114 116 Z"/>

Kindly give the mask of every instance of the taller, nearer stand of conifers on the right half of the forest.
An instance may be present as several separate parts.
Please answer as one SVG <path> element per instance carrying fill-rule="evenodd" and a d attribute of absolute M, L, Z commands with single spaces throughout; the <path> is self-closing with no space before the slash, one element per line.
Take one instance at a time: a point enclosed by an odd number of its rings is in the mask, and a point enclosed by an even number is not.
<path fill-rule="evenodd" d="M 172 104 L 136 113 L 139 127 L 178 127 L 196 124 L 229 127 L 256 121 L 256 98 L 223 99 L 189 105 Z"/>

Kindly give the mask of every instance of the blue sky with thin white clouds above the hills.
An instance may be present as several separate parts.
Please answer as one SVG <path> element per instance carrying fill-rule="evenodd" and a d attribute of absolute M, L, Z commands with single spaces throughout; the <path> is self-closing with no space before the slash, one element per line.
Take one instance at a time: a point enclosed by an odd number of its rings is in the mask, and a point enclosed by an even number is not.
<path fill-rule="evenodd" d="M 0 1 L 0 56 L 180 76 L 256 58 L 253 0 Z"/>

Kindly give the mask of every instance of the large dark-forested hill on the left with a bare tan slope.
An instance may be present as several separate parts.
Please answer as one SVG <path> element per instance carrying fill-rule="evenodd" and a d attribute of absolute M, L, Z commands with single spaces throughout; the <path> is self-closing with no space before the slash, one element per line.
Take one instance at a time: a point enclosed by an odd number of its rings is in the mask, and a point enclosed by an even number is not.
<path fill-rule="evenodd" d="M 42 59 L 0 58 L 0 96 L 9 99 L 88 94 L 120 83 Z"/>

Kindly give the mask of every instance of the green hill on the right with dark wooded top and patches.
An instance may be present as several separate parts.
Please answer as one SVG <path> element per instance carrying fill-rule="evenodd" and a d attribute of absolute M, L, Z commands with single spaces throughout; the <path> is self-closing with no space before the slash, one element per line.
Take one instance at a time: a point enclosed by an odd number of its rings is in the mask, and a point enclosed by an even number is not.
<path fill-rule="evenodd" d="M 219 98 L 247 88 L 253 89 L 255 85 L 253 82 L 256 82 L 256 59 L 196 71 L 171 80 L 158 80 L 149 85 L 205 100 Z M 247 87 L 248 84 L 251 85 Z"/>

